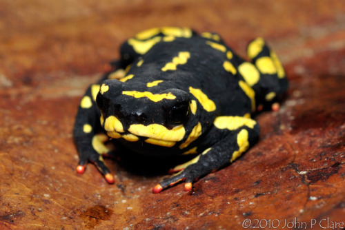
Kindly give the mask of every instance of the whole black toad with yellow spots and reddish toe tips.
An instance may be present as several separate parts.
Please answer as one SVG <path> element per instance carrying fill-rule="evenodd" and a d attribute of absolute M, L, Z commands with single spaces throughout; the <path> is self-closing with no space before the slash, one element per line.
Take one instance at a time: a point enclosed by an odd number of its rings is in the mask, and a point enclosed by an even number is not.
<path fill-rule="evenodd" d="M 200 176 L 232 163 L 259 136 L 251 114 L 277 110 L 288 86 L 263 39 L 252 41 L 247 53 L 250 62 L 218 34 L 188 28 L 152 28 L 128 39 L 121 59 L 81 99 L 74 128 L 77 172 L 91 161 L 115 181 L 103 163 L 108 139 L 147 156 L 193 154 L 154 193 L 181 180 L 189 191 Z"/>

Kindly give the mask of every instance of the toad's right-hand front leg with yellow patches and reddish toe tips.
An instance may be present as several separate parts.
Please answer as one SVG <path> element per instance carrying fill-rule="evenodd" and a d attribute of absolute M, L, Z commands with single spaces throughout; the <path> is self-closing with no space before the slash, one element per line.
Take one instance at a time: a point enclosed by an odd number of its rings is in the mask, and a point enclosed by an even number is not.
<path fill-rule="evenodd" d="M 197 157 L 175 167 L 173 170 L 179 172 L 156 185 L 152 189 L 153 193 L 159 193 L 180 181 L 185 181 L 184 189 L 190 191 L 195 180 L 232 163 L 252 146 L 259 136 L 259 125 L 250 118 L 240 116 L 219 116 L 215 119 L 213 129 L 215 132 L 222 132 L 223 138 Z"/>

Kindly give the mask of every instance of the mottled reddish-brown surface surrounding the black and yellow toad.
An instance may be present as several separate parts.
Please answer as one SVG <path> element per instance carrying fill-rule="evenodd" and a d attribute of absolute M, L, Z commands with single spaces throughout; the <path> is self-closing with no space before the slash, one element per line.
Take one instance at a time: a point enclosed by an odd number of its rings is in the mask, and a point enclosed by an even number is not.
<path fill-rule="evenodd" d="M 72 126 L 84 90 L 118 58 L 121 41 L 163 25 L 219 32 L 242 55 L 250 39 L 263 36 L 290 79 L 282 109 L 257 116 L 260 142 L 191 192 L 177 185 L 152 194 L 164 178 L 152 165 L 150 173 L 134 173 L 107 160 L 115 185 L 93 165 L 76 174 Z M 324 218 L 345 222 L 344 57 L 341 0 L 2 0 L 0 229 L 241 229 L 246 218 L 250 227 L 258 219 L 282 228 L 296 218 L 321 229 Z"/>

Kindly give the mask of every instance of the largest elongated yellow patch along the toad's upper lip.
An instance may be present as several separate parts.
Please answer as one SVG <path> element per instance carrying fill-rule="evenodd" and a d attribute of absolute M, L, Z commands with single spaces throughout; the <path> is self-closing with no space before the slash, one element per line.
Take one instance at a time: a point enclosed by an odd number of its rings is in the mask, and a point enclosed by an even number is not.
<path fill-rule="evenodd" d="M 179 141 L 184 138 L 186 133 L 183 125 L 178 125 L 172 129 L 167 129 L 164 125 L 150 124 L 141 125 L 133 124 L 130 125 L 129 132 L 137 136 L 145 136 L 148 138 L 155 138 L 157 140 L 169 140 L 169 141 Z"/>

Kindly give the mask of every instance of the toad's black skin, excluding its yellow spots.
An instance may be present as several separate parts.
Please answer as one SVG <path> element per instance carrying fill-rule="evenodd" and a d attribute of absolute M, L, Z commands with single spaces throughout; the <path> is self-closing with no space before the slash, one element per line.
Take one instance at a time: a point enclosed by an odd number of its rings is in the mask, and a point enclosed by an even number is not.
<path fill-rule="evenodd" d="M 175 28 L 175 30 L 182 29 Z M 148 41 L 157 37 L 160 39 L 144 53 L 136 52 L 130 40 L 126 41 L 121 46 L 121 60 L 111 63 L 112 71 L 103 76 L 98 83 L 105 86 L 106 90 L 98 92 L 97 99 L 96 101 L 92 99 L 91 106 L 87 108 L 79 106 L 74 129 L 75 143 L 80 157 L 79 173 L 83 172 L 90 160 L 97 165 L 108 182 L 113 182 L 112 175 L 108 167 L 104 165 L 102 158 L 103 154 L 109 154 L 109 152 L 99 153 L 92 146 L 92 138 L 95 134 L 109 131 L 105 130 L 105 123 L 100 123 L 101 114 L 104 121 L 110 116 L 115 116 L 121 122 L 123 127 L 120 132 L 121 135 L 131 134 L 128 128 L 133 124 L 145 126 L 157 124 L 168 130 L 178 126 L 184 127 L 184 136 L 181 140 L 174 140 L 173 146 L 169 147 L 146 143 L 145 140 L 148 137 L 139 134 L 136 135 L 137 140 L 135 141 L 128 141 L 123 136 L 112 139 L 115 143 L 121 143 L 128 149 L 148 156 L 162 156 L 163 154 L 164 156 L 176 156 L 197 147 L 193 154 L 199 158 L 185 167 L 177 167 L 175 171 L 182 171 L 161 181 L 153 189 L 155 193 L 180 180 L 185 180 L 185 189 L 190 190 L 191 183 L 197 178 L 228 165 L 236 151 L 240 151 L 239 154 L 242 154 L 248 147 L 255 144 L 259 136 L 259 125 L 250 119 L 250 114 L 255 112 L 252 107 L 253 100 L 239 86 L 240 81 L 246 82 L 238 68 L 245 62 L 244 59 L 228 48 L 217 34 L 211 34 L 212 37 L 200 36 L 190 30 L 190 34 L 187 36 L 173 35 L 174 38 L 171 39 L 172 34 L 159 30 L 148 38 L 142 40 L 136 38 L 137 41 Z M 164 41 L 167 37 L 169 40 Z M 212 47 L 210 42 L 217 43 L 226 50 Z M 230 59 L 227 56 L 228 51 L 232 54 Z M 175 70 L 162 71 L 162 68 L 179 56 L 180 52 L 188 52 L 187 61 L 185 63 L 177 61 Z M 257 67 L 255 63 L 260 57 L 270 57 L 270 55 L 271 52 L 264 43 L 262 50 L 252 57 L 253 66 Z M 235 67 L 235 74 L 224 69 L 224 61 L 229 61 Z M 121 69 L 126 70 L 125 76 L 133 74 L 132 79 L 125 82 L 108 79 L 109 77 L 112 78 L 114 72 Z M 162 82 L 153 87 L 146 85 L 157 80 Z M 198 98 L 190 92 L 190 87 L 199 89 L 203 94 L 206 94 L 210 101 L 213 101 L 215 109 L 206 111 Z M 285 76 L 278 77 L 276 72 L 270 74 L 259 72 L 259 81 L 248 87 L 255 91 L 255 107 L 267 109 L 282 97 L 288 83 Z M 123 94 L 125 91 L 173 94 L 175 99 L 164 98 L 155 102 L 146 96 L 137 98 Z M 273 98 L 270 98 L 270 101 L 265 99 L 268 92 L 275 94 Z M 85 95 L 90 98 L 95 97 L 95 95 L 92 96 L 91 87 Z M 196 102 L 195 114 L 191 108 L 192 101 Z M 239 120 L 244 121 L 244 125 L 235 129 L 219 129 L 214 124 L 215 118 L 219 116 L 238 117 Z M 230 123 L 236 123 L 236 121 L 229 120 Z M 196 135 L 195 140 L 191 141 L 187 147 L 181 147 L 198 123 L 201 125 L 201 133 Z M 253 125 L 246 125 L 247 123 Z M 85 124 L 92 127 L 90 132 L 83 130 Z M 239 133 L 248 134 L 248 138 L 246 138 L 248 146 L 239 146 L 245 145 L 237 141 L 241 136 Z M 155 138 L 157 137 L 155 136 Z M 206 149 L 209 151 L 205 154 Z M 204 154 L 202 154 L 203 152 Z"/>

